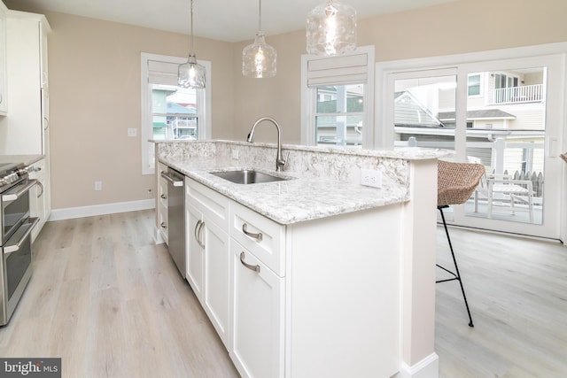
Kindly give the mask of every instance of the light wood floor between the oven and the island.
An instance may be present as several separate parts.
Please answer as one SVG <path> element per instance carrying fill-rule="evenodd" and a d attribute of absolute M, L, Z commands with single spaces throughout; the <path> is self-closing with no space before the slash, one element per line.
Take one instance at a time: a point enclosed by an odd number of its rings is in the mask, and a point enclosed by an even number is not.
<path fill-rule="evenodd" d="M 48 222 L 0 355 L 61 357 L 63 376 L 238 377 L 153 211 Z"/>

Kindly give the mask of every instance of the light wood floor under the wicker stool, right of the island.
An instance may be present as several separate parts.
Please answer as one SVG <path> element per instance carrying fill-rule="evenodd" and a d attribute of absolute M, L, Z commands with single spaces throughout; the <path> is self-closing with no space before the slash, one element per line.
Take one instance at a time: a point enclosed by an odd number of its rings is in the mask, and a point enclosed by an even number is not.
<path fill-rule="evenodd" d="M 567 377 L 567 248 L 459 228 L 449 233 L 475 327 L 468 326 L 458 282 L 438 283 L 439 374 Z M 438 246 L 438 262 L 450 266 L 442 228 Z"/>

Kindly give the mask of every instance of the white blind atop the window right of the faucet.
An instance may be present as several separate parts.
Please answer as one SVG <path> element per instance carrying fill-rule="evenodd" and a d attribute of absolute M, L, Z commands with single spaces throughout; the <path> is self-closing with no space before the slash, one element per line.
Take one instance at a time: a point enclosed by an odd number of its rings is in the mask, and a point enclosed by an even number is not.
<path fill-rule="evenodd" d="M 369 56 L 366 52 L 309 59 L 307 61 L 307 87 L 367 82 L 368 70 Z"/>

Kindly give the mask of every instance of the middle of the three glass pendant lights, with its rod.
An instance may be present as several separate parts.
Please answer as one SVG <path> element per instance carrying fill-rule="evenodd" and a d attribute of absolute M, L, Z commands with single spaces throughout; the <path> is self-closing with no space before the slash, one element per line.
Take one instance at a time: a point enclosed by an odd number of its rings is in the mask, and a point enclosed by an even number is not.
<path fill-rule="evenodd" d="M 252 44 L 242 50 L 242 74 L 265 78 L 276 76 L 276 49 L 266 43 L 262 32 L 262 0 L 258 7 L 258 33 Z"/>

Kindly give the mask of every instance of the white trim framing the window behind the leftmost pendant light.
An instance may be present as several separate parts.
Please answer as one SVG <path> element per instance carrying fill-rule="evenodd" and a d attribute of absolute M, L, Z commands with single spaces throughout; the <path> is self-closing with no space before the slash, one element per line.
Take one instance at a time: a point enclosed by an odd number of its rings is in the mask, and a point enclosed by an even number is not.
<path fill-rule="evenodd" d="M 171 57 L 167 55 L 150 54 L 142 52 L 140 59 L 140 94 L 141 94 L 141 146 L 142 146 L 142 174 L 155 174 L 155 169 L 150 167 L 149 161 L 149 148 L 151 146 L 148 141 L 151 141 L 152 135 L 150 134 L 151 123 L 151 94 L 148 86 L 148 60 L 159 60 L 163 62 L 170 62 L 182 64 L 187 61 L 187 58 Z M 206 86 L 205 90 L 198 90 L 198 102 L 205 104 L 205 112 L 199 112 L 199 130 L 198 139 L 210 139 L 212 135 L 211 126 L 211 87 L 213 82 L 213 75 L 211 73 L 211 62 L 208 60 L 198 60 L 198 64 L 205 66 L 206 69 Z M 203 125 L 201 128 L 200 126 Z"/>

